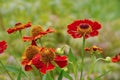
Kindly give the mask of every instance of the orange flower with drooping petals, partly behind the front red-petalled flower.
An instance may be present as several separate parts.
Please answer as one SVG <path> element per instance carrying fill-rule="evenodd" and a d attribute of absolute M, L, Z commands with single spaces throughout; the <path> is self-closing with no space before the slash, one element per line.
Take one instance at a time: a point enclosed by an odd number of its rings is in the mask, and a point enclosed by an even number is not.
<path fill-rule="evenodd" d="M 39 53 L 39 51 L 40 51 L 40 48 L 37 46 L 34 46 L 34 45 L 29 46 L 25 50 L 25 52 L 22 56 L 22 62 L 21 62 L 21 64 L 25 66 L 25 71 L 32 70 L 31 60 L 37 53 Z"/>

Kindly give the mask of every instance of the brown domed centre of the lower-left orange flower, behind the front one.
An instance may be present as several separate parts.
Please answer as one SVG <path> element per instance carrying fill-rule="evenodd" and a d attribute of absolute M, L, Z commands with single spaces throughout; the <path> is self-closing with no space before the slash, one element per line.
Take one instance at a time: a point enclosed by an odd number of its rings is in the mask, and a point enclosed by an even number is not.
<path fill-rule="evenodd" d="M 25 50 L 25 56 L 27 57 L 27 59 L 31 60 L 37 53 L 39 53 L 39 48 L 37 46 L 29 46 L 26 50 Z"/>

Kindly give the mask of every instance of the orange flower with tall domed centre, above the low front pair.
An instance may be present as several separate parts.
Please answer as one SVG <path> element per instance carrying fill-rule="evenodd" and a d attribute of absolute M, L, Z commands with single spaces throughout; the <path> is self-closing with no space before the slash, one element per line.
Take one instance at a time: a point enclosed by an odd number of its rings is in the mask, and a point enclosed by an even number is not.
<path fill-rule="evenodd" d="M 35 41 L 39 38 L 41 38 L 43 35 L 46 35 L 48 33 L 55 32 L 55 30 L 52 30 L 51 28 L 48 28 L 46 31 L 42 29 L 41 26 L 34 26 L 31 30 L 32 36 L 26 37 L 24 36 L 22 39 L 23 41 Z"/>

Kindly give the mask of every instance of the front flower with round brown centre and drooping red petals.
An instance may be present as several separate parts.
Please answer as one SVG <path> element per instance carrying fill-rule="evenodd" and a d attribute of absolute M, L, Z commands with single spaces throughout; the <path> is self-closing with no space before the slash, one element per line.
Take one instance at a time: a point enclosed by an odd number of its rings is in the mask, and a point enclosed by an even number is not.
<path fill-rule="evenodd" d="M 40 70 L 41 73 L 46 74 L 46 71 L 53 70 L 55 62 L 60 68 L 67 65 L 67 57 L 55 55 L 55 50 L 52 48 L 42 48 L 40 54 L 37 54 L 32 59 L 32 64 Z"/>

